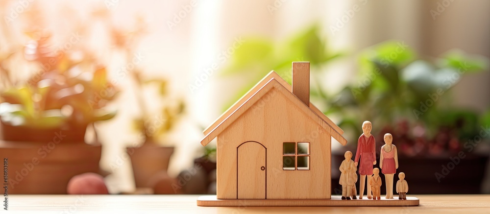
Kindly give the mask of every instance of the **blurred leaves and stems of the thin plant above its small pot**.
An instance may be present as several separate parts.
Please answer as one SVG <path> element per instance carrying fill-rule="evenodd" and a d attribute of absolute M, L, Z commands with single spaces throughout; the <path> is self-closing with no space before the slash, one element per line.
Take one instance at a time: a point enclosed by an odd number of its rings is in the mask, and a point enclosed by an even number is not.
<path fill-rule="evenodd" d="M 122 30 L 115 24 L 108 24 L 107 28 L 111 32 L 114 41 L 115 54 L 122 52 L 125 56 L 126 64 L 131 64 L 133 57 L 138 54 L 136 51 L 139 42 L 148 32 L 147 25 L 141 17 L 136 18 L 137 22 L 130 30 Z M 134 81 L 134 92 L 137 99 L 140 115 L 132 119 L 132 128 L 143 136 L 143 143 L 158 143 L 164 141 L 166 135 L 170 133 L 177 121 L 185 113 L 185 102 L 181 98 L 172 97 L 169 93 L 170 82 L 163 77 L 145 77 L 145 70 L 136 65 L 135 68 L 126 68 L 129 76 Z M 157 103 L 159 106 L 156 112 L 152 112 L 148 101 L 144 98 L 145 94 L 151 90 L 156 91 L 152 97 L 151 105 Z"/>

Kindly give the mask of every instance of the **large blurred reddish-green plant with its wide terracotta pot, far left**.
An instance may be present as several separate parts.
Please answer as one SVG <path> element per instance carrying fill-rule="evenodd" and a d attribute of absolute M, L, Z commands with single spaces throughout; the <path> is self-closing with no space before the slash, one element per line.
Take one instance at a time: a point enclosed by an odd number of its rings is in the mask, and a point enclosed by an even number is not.
<path fill-rule="evenodd" d="M 49 34 L 36 33 L 23 51 L 0 62 L 0 156 L 8 161 L 9 193 L 64 194 L 74 175 L 99 173 L 94 124 L 115 116 L 106 105 L 118 90 L 107 82 L 105 68 L 54 52 L 49 41 Z M 21 64 L 38 71 L 27 81 L 11 75 L 19 69 L 10 63 L 17 54 L 24 55 Z M 87 127 L 95 136 L 90 144 Z"/>

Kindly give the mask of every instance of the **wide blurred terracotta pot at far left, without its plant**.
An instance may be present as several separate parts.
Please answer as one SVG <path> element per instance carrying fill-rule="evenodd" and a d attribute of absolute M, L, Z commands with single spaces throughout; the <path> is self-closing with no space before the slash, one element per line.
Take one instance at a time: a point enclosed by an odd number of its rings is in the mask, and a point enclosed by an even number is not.
<path fill-rule="evenodd" d="M 73 176 L 99 172 L 100 144 L 55 142 L 0 140 L 9 194 L 66 194 Z"/>

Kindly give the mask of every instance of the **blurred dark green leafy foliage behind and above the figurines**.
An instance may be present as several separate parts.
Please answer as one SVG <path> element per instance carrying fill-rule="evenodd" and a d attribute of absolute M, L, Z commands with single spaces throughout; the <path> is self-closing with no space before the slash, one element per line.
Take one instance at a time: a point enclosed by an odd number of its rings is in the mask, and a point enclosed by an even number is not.
<path fill-rule="evenodd" d="M 433 61 L 433 62 L 432 62 Z M 458 131 L 460 139 L 479 131 L 479 114 L 451 104 L 450 89 L 463 75 L 488 69 L 488 60 L 459 50 L 433 59 L 417 59 L 403 42 L 388 41 L 366 48 L 359 57 L 359 76 L 338 95 L 323 96 L 326 114 L 340 113 L 341 127 L 361 134 L 369 119 L 383 129 L 395 121 L 422 124 L 429 136 L 441 127 Z"/>

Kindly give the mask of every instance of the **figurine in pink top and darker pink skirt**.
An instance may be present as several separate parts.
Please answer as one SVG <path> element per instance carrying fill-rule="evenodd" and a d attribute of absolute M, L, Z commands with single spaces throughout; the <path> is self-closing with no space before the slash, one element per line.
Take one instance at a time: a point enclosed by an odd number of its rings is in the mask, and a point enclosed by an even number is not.
<path fill-rule="evenodd" d="M 379 167 L 381 173 L 385 175 L 386 199 L 393 199 L 393 176 L 398 168 L 398 154 L 396 146 L 392 144 L 393 136 L 390 133 L 385 134 L 385 144 L 381 146 L 379 157 Z"/>

